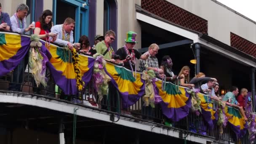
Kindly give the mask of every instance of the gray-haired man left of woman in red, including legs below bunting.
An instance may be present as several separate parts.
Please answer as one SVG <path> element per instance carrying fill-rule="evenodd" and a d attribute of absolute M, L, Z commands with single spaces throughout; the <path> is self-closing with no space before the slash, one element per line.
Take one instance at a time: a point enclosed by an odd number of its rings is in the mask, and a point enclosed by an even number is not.
<path fill-rule="evenodd" d="M 34 29 L 34 24 L 30 24 L 29 27 L 27 27 L 26 19 L 27 13 L 29 11 L 29 7 L 21 3 L 16 8 L 16 13 L 14 13 L 13 16 L 11 16 L 11 30 L 13 32 L 18 32 L 21 34 L 24 34 L 25 32 L 28 32 L 30 29 Z M 27 27 L 27 28 L 26 28 Z M 10 83 L 9 90 L 10 91 L 21 91 L 21 83 L 23 81 L 23 74 L 27 67 L 28 63 L 28 53 L 24 56 L 24 59 L 20 61 L 18 66 L 13 69 L 13 83 Z"/>

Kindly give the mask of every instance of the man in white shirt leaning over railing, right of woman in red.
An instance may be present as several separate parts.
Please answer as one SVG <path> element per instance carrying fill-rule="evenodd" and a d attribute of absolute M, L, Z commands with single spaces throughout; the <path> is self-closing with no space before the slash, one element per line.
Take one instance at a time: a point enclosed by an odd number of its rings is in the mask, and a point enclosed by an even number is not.
<path fill-rule="evenodd" d="M 51 28 L 51 32 L 57 34 L 57 38 L 54 43 L 58 45 L 67 45 L 71 50 L 75 46 L 80 47 L 80 43 L 74 43 L 73 29 L 75 27 L 75 21 L 71 18 L 65 19 L 63 24 L 55 25 Z M 52 38 L 51 38 L 52 39 Z"/>

